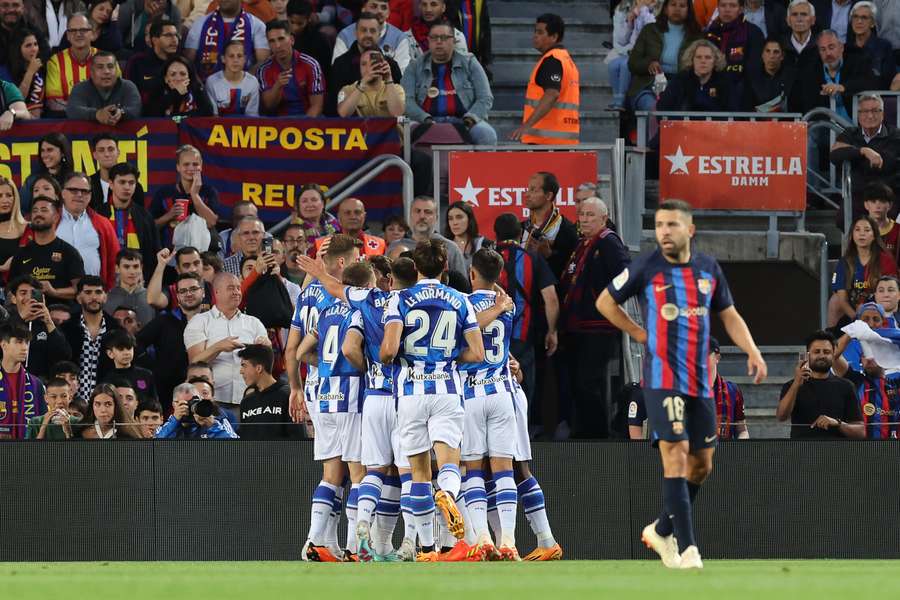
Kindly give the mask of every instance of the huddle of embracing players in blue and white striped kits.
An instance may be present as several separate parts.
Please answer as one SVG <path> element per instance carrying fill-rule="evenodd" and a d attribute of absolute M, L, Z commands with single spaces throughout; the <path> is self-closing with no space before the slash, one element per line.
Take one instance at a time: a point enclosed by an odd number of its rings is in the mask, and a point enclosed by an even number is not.
<path fill-rule="evenodd" d="M 467 295 L 440 281 L 442 241 L 393 262 L 360 262 L 359 244 L 338 234 L 319 260 L 300 258 L 314 281 L 285 360 L 291 411 L 311 421 L 323 464 L 303 559 L 518 561 L 520 500 L 538 540 L 525 560 L 562 558 L 528 466 L 527 400 L 509 354 L 515 309 L 497 286 L 503 258 L 474 254 Z"/>

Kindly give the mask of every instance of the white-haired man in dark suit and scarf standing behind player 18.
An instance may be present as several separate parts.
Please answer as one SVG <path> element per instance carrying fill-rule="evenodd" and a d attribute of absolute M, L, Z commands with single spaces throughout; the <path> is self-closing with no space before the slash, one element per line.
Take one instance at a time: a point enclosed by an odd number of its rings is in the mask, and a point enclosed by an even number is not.
<path fill-rule="evenodd" d="M 570 374 L 575 414 L 561 402 L 560 420 L 575 429 L 575 437 L 607 438 L 612 398 L 605 392 L 608 363 L 621 352 L 621 334 L 596 307 L 597 298 L 631 259 L 628 249 L 607 225 L 609 209 L 600 198 L 578 206 L 582 238 L 560 280 L 563 346 Z M 610 386 L 612 389 L 612 386 Z"/>

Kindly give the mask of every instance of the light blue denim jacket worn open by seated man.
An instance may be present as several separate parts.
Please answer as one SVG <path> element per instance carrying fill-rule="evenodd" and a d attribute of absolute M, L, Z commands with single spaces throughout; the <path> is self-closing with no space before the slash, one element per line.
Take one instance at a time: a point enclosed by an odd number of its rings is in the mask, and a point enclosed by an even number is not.
<path fill-rule="evenodd" d="M 454 52 L 450 62 L 450 78 L 456 88 L 457 98 L 467 107 L 464 116 L 472 117 L 475 121 L 486 119 L 494 104 L 494 95 L 484 69 L 472 54 Z M 409 63 L 403 73 L 400 85 L 406 92 L 406 116 L 413 121 L 422 122 L 431 116 L 422 110 L 422 102 L 425 101 L 433 79 L 431 52 L 426 52 Z"/>

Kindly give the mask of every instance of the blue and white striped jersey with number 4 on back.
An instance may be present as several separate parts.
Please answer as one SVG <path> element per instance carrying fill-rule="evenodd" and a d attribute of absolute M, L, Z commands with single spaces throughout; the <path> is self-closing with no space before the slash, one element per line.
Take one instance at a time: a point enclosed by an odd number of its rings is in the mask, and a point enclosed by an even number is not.
<path fill-rule="evenodd" d="M 363 373 L 341 352 L 352 316 L 353 309 L 346 302 L 335 302 L 319 314 L 319 390 L 315 407 L 320 413 L 362 411 Z"/>

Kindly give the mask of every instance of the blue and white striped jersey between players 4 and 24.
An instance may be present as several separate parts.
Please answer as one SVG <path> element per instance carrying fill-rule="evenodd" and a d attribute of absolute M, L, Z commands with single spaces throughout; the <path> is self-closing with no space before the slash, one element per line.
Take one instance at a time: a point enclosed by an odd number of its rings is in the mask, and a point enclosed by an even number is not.
<path fill-rule="evenodd" d="M 384 309 L 391 293 L 378 288 L 347 287 L 344 294 L 350 306 L 356 309 L 359 320 L 355 323 L 363 332 L 363 347 L 368 365 L 366 393 L 393 396 L 397 367 L 381 364 L 379 357 L 381 341 L 384 339 Z"/>

